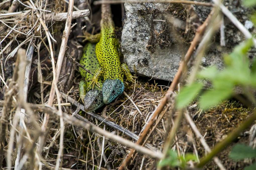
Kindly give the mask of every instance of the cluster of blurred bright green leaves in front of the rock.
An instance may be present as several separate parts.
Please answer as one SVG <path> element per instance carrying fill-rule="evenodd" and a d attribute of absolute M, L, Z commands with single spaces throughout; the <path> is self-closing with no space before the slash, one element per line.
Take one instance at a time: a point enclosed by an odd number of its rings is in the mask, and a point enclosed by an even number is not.
<path fill-rule="evenodd" d="M 197 74 L 198 80 L 208 80 L 212 84 L 212 89 L 200 95 L 200 108 L 206 109 L 230 98 L 235 93 L 235 86 L 241 86 L 243 89 L 256 87 L 256 60 L 250 68 L 247 56 L 252 45 L 252 39 L 246 40 L 236 46 L 231 54 L 224 56 L 224 70 L 220 71 L 216 66 L 212 66 Z M 183 87 L 177 96 L 177 108 L 187 106 L 202 91 L 203 86 L 203 83 L 194 82 Z"/>

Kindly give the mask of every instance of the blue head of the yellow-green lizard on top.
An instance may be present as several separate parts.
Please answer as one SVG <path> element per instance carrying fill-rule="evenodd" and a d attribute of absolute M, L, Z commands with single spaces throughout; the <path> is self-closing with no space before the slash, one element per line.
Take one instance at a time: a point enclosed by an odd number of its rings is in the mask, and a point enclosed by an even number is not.
<path fill-rule="evenodd" d="M 124 91 L 124 83 L 119 79 L 107 79 L 102 86 L 103 102 L 105 104 L 113 101 L 117 96 Z"/>

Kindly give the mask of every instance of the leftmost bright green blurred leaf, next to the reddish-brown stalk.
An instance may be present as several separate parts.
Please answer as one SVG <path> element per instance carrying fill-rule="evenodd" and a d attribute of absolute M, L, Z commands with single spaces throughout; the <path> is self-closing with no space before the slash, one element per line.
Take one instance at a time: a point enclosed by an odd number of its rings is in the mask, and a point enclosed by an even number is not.
<path fill-rule="evenodd" d="M 203 84 L 197 82 L 194 82 L 189 86 L 183 87 L 177 96 L 177 109 L 186 107 L 196 97 L 196 95 L 200 92 L 202 87 Z"/>

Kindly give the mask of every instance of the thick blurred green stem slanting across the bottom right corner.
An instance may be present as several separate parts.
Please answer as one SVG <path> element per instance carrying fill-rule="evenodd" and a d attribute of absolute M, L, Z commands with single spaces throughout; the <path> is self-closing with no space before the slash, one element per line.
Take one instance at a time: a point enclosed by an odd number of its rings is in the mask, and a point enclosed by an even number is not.
<path fill-rule="evenodd" d="M 239 127 L 235 128 L 229 135 L 222 140 L 221 142 L 217 143 L 217 145 L 212 149 L 212 151 L 203 157 L 200 162 L 197 164 L 197 168 L 202 168 L 206 165 L 215 155 L 220 153 L 225 147 L 227 147 L 234 139 L 236 139 L 240 133 L 242 133 L 245 129 L 250 127 L 253 122 L 256 120 L 256 111 L 248 117 Z"/>

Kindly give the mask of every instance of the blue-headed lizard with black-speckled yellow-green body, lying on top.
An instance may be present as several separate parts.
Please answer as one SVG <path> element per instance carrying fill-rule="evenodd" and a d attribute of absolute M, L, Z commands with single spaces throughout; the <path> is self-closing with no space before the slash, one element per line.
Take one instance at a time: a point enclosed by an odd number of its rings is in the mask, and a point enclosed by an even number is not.
<path fill-rule="evenodd" d="M 111 8 L 109 4 L 101 5 L 101 32 L 96 35 L 88 35 L 86 39 L 90 42 L 98 42 L 96 45 L 96 55 L 100 67 L 95 71 L 92 82 L 92 88 L 101 74 L 104 75 L 102 86 L 103 102 L 105 104 L 113 101 L 124 91 L 123 76 L 125 74 L 128 81 L 133 81 L 128 66 L 120 63 L 118 54 L 119 42 L 114 37 L 114 22 L 111 17 Z"/>

